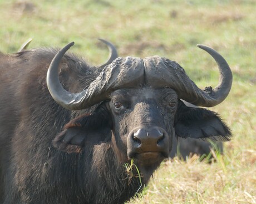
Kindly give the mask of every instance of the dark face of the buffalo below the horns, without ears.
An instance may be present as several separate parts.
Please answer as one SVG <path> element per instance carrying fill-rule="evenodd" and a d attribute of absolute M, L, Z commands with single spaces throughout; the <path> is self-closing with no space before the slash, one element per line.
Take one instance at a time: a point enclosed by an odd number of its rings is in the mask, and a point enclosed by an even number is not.
<path fill-rule="evenodd" d="M 114 91 L 109 108 L 118 149 L 140 166 L 159 166 L 171 150 L 177 106 L 178 96 L 169 88 Z"/>

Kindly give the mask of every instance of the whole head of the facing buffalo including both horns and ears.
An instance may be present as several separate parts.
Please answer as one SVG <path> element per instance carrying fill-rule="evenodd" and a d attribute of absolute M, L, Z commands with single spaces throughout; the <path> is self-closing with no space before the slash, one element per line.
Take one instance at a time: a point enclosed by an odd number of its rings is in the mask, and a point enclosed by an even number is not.
<path fill-rule="evenodd" d="M 58 149 L 80 151 L 90 144 L 109 142 L 120 162 L 134 159 L 148 177 L 168 157 L 173 136 L 229 140 L 229 128 L 216 113 L 188 107 L 180 100 L 211 107 L 227 97 L 232 72 L 215 50 L 198 45 L 218 63 L 220 79 L 214 89 L 199 89 L 178 63 L 154 56 L 117 58 L 81 93 L 74 94 L 63 89 L 58 79 L 58 65 L 72 45 L 61 49 L 48 69 L 52 98 L 70 110 L 100 105 L 65 126 L 53 142 Z"/>

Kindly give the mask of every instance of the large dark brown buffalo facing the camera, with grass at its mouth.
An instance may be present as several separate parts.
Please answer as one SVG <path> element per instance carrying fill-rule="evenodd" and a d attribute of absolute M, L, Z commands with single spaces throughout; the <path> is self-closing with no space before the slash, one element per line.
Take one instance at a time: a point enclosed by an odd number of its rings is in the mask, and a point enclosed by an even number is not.
<path fill-rule="evenodd" d="M 0 54 L 0 203 L 124 203 L 170 155 L 174 137 L 228 141 L 220 104 L 232 86 L 201 90 L 176 62 L 119 57 L 88 65 L 67 50 Z M 116 58 L 116 59 L 115 59 Z M 182 99 L 182 100 L 181 100 Z"/>

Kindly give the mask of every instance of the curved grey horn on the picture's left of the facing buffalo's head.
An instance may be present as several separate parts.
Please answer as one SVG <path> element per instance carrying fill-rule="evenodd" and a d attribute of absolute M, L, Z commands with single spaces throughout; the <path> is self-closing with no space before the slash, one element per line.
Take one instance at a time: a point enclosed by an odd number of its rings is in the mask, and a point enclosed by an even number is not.
<path fill-rule="evenodd" d="M 58 67 L 63 55 L 73 44 L 74 42 L 67 44 L 55 55 L 46 77 L 46 83 L 52 98 L 64 108 L 70 110 L 85 109 L 109 99 L 111 90 L 120 87 L 130 88 L 141 83 L 144 74 L 142 60 L 131 57 L 117 58 L 111 68 L 107 66 L 103 68 L 99 76 L 80 93 L 66 91 L 58 78 Z M 107 45 L 109 44 L 107 43 Z"/>

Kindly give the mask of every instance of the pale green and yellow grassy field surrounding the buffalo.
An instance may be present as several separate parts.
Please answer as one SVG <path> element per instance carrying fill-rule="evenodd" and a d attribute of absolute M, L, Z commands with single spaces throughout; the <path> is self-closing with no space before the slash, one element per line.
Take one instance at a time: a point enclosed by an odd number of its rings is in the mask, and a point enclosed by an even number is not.
<path fill-rule="evenodd" d="M 165 161 L 130 203 L 256 203 L 256 1 L 255 0 L 0 0 L 0 50 L 63 47 L 92 64 L 114 43 L 121 56 L 161 55 L 183 66 L 199 87 L 216 86 L 218 68 L 196 44 L 218 50 L 233 70 L 228 98 L 211 108 L 233 131 L 225 155 L 206 164 L 198 157 Z"/>

